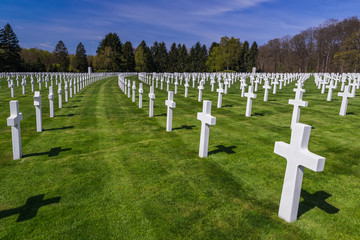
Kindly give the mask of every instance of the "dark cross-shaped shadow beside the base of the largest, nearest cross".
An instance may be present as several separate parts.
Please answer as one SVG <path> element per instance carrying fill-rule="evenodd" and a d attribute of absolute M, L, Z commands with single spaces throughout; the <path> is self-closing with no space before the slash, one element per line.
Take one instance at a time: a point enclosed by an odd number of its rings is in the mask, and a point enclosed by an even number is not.
<path fill-rule="evenodd" d="M 318 207 L 329 214 L 335 214 L 340 210 L 326 202 L 326 199 L 331 197 L 331 194 L 327 192 L 317 191 L 314 194 L 310 194 L 302 189 L 301 197 L 304 198 L 304 201 L 299 204 L 298 218 L 315 207 Z"/>

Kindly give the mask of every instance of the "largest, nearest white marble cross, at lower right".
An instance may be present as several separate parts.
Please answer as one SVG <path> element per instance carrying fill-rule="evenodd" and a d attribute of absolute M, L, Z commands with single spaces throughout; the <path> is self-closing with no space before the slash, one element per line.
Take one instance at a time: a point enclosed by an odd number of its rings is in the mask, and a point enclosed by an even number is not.
<path fill-rule="evenodd" d="M 287 160 L 278 213 L 287 222 L 297 219 L 304 167 L 314 172 L 324 170 L 325 158 L 308 150 L 310 132 L 310 125 L 295 123 L 290 144 L 275 142 L 274 153 Z"/>

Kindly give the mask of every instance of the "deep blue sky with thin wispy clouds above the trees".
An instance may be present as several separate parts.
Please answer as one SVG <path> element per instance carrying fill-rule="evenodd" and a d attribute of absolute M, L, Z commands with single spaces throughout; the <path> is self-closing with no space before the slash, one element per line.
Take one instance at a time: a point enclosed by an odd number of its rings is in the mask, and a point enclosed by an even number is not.
<path fill-rule="evenodd" d="M 109 32 L 134 47 L 142 40 L 209 47 L 225 35 L 261 45 L 359 12 L 360 0 L 1 0 L 0 26 L 10 23 L 24 48 L 53 51 L 62 40 L 70 53 L 82 42 L 95 54 Z"/>

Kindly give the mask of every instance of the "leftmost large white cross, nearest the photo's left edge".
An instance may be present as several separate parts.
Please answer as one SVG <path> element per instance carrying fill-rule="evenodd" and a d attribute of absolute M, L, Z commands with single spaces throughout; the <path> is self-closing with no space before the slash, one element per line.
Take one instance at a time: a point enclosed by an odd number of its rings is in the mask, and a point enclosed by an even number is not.
<path fill-rule="evenodd" d="M 7 125 L 11 127 L 14 160 L 22 156 L 20 132 L 20 122 L 22 118 L 22 113 L 19 113 L 19 102 L 17 100 L 10 101 L 10 117 L 7 118 Z"/>

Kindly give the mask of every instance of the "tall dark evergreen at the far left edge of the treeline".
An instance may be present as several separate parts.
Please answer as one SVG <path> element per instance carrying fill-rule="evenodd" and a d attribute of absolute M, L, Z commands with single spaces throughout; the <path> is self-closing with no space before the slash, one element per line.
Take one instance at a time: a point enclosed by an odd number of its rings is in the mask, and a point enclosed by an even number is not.
<path fill-rule="evenodd" d="M 0 71 L 21 70 L 19 40 L 9 23 L 0 30 Z"/>

